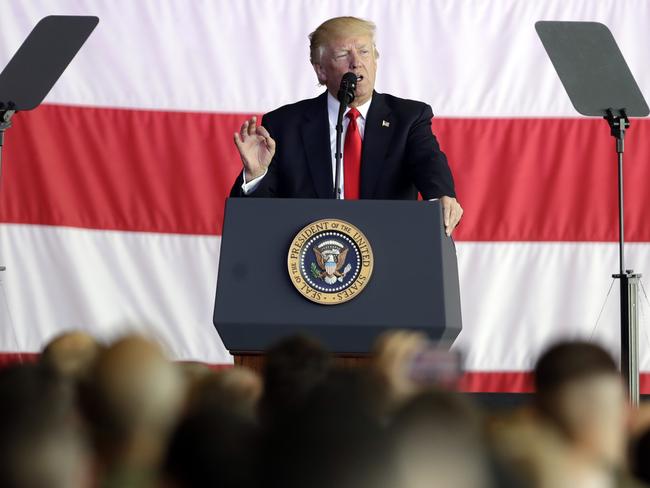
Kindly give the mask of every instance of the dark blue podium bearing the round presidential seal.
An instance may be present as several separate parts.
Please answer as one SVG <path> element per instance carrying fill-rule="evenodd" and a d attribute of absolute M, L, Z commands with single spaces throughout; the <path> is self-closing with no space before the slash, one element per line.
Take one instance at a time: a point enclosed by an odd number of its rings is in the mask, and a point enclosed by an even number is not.
<path fill-rule="evenodd" d="M 330 276 L 338 280 L 329 285 L 336 304 L 323 304 L 306 298 L 294 286 L 300 278 L 290 272 L 291 253 L 296 252 L 301 230 L 312 228 L 314 232 L 305 234 L 318 237 L 328 229 L 310 226 L 332 220 L 363 233 L 371 248 L 372 274 L 363 289 L 349 298 L 345 291 L 337 291 L 345 280 L 336 277 L 349 268 L 341 263 L 338 274 Z M 321 239 L 323 253 L 329 248 L 337 251 L 336 243 L 331 243 L 337 237 L 332 236 L 324 238 L 326 242 Z M 346 249 L 352 247 L 345 237 L 341 241 Z M 364 253 L 357 253 L 359 263 L 367 259 Z M 303 267 L 307 280 L 320 288 L 312 280 L 326 275 L 326 261 L 333 258 L 318 261 L 315 254 L 313 249 L 304 252 Z M 354 258 L 346 259 L 356 263 Z M 391 329 L 421 331 L 433 341 L 451 344 L 462 326 L 458 265 L 454 242 L 444 232 L 440 203 L 228 199 L 213 322 L 235 363 L 255 369 L 268 347 L 297 333 L 353 360 L 366 356 L 377 336 Z"/>

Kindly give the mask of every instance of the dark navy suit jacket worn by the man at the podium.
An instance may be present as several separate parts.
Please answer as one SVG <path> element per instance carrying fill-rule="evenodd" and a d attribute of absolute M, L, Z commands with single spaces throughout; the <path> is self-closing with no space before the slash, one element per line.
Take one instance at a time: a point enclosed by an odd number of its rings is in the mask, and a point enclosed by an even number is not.
<path fill-rule="evenodd" d="M 361 198 L 455 197 L 447 158 L 431 133 L 431 107 L 374 93 L 361 154 Z M 387 122 L 388 126 L 386 126 Z M 333 198 L 327 92 L 269 112 L 262 125 L 275 139 L 269 171 L 249 196 Z M 242 196 L 242 175 L 231 197 Z"/>

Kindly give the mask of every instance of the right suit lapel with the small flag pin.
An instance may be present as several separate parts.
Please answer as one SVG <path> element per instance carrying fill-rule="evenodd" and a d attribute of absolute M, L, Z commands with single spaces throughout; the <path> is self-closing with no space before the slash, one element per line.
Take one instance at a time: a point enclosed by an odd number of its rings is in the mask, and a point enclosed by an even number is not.
<path fill-rule="evenodd" d="M 394 124 L 384 96 L 374 93 L 366 118 L 361 152 L 361 198 L 372 198 L 393 136 Z"/>

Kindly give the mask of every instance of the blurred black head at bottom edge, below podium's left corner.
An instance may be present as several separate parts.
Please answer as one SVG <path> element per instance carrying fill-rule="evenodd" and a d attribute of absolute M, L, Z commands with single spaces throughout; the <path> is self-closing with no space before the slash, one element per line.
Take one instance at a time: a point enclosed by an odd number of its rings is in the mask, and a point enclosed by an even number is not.
<path fill-rule="evenodd" d="M 247 488 L 257 484 L 256 425 L 221 408 L 196 409 L 175 429 L 161 478 L 178 488 Z"/>

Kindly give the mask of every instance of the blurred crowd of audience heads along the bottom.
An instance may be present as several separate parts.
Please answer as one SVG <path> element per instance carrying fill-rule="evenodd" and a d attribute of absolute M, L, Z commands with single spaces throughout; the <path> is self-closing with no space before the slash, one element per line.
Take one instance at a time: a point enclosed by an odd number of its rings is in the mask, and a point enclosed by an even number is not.
<path fill-rule="evenodd" d="M 497 412 L 453 391 L 451 357 L 397 331 L 343 368 L 296 336 L 271 348 L 258 374 L 175 363 L 143 337 L 104 345 L 69 332 L 37 363 L 0 370 L 0 487 L 650 482 L 649 410 L 628 405 L 599 346 L 553 346 L 537 362 L 534 399 Z"/>

